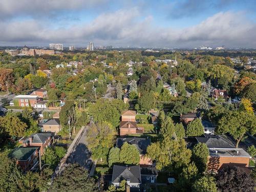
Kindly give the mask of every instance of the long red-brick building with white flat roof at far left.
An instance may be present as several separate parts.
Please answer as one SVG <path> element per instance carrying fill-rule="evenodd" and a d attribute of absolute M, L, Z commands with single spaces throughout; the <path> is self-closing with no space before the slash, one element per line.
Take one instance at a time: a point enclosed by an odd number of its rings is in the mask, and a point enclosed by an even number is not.
<path fill-rule="evenodd" d="M 37 95 L 17 95 L 13 97 L 11 106 L 32 106 L 36 108 L 36 104 L 42 101 L 42 98 L 39 98 Z"/>

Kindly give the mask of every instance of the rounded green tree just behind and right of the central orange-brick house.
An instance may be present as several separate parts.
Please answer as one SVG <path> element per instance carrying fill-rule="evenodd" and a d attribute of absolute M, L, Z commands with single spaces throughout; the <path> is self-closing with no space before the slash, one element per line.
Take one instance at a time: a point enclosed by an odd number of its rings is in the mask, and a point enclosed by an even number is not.
<path fill-rule="evenodd" d="M 144 92 L 138 99 L 138 103 L 135 105 L 135 109 L 139 112 L 148 114 L 148 111 L 155 107 L 154 92 Z"/>

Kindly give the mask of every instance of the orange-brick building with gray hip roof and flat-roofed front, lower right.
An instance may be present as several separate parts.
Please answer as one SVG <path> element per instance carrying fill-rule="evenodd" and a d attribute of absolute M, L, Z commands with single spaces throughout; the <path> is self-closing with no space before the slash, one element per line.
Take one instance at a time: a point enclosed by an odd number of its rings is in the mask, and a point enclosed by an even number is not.
<path fill-rule="evenodd" d="M 208 170 L 217 171 L 226 166 L 248 167 L 250 155 L 243 148 L 236 148 L 223 136 L 205 135 L 196 137 L 198 143 L 205 143 L 209 150 Z"/>

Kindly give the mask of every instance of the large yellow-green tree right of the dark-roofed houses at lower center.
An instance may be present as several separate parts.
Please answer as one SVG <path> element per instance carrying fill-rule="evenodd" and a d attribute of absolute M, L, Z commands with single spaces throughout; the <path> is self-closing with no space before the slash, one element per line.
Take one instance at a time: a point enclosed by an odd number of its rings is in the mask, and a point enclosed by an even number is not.
<path fill-rule="evenodd" d="M 147 147 L 147 157 L 156 160 L 158 170 L 173 170 L 190 162 L 191 151 L 187 149 L 184 139 L 165 138 Z"/>

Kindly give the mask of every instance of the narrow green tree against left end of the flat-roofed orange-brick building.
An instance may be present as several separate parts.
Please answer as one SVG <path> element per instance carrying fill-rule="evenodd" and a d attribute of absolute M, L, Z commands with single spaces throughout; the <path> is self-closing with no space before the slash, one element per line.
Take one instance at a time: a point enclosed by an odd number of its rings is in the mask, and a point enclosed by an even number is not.
<path fill-rule="evenodd" d="M 206 170 L 209 150 L 205 143 L 198 143 L 193 147 L 192 160 L 195 162 L 200 173 Z"/>

